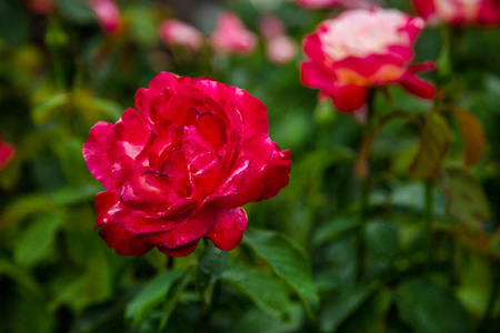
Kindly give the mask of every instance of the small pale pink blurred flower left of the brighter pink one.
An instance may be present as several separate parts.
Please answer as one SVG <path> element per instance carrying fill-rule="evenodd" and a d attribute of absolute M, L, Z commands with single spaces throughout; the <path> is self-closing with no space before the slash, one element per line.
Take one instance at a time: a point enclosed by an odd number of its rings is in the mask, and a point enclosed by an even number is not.
<path fill-rule="evenodd" d="M 191 50 L 199 50 L 203 47 L 201 32 L 176 19 L 164 20 L 160 24 L 160 37 L 167 44 L 182 46 Z"/>

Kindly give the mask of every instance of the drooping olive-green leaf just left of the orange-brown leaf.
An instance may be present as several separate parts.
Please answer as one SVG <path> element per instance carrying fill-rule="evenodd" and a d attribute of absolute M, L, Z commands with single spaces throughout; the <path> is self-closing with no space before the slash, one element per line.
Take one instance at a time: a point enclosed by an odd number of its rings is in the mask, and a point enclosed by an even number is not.
<path fill-rule="evenodd" d="M 438 176 L 452 140 L 447 120 L 438 112 L 430 112 L 420 134 L 420 148 L 410 165 L 410 173 L 419 180 Z"/>

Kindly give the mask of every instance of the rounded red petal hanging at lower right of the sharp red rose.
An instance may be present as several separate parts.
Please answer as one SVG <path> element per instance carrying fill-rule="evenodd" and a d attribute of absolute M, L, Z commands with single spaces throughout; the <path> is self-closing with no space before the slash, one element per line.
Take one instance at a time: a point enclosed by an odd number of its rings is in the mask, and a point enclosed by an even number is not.
<path fill-rule="evenodd" d="M 247 213 L 242 208 L 221 210 L 216 215 L 216 223 L 204 235 L 222 251 L 233 250 L 243 239 L 247 229 Z"/>

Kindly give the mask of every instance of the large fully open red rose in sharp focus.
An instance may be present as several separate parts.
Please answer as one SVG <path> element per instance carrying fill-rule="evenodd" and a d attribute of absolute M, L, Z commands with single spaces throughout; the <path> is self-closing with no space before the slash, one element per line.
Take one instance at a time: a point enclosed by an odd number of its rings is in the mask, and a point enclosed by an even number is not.
<path fill-rule="evenodd" d="M 184 256 L 202 236 L 223 251 L 243 238 L 246 203 L 288 184 L 290 151 L 269 139 L 267 109 L 247 91 L 162 72 L 117 123 L 98 122 L 83 145 L 99 234 L 119 254 L 157 246 Z"/>

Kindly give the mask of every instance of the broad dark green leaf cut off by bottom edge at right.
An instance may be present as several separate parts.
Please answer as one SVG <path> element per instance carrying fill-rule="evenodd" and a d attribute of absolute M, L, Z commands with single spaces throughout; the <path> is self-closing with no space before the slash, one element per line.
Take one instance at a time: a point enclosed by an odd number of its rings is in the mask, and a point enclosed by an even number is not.
<path fill-rule="evenodd" d="M 410 280 L 396 290 L 400 319 L 416 333 L 472 332 L 467 312 L 453 295 L 424 280 Z"/>

